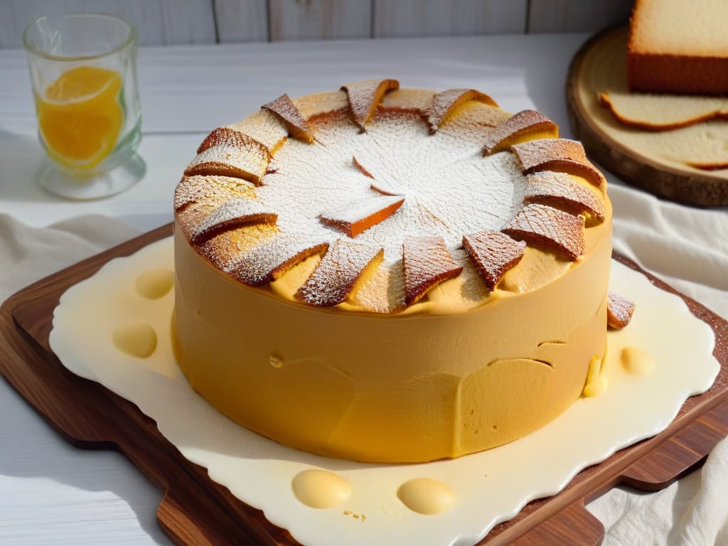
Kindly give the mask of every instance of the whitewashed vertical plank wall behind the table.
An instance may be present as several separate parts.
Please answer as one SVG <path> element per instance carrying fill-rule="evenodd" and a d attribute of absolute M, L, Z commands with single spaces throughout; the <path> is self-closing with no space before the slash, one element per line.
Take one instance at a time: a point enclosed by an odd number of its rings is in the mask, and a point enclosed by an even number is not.
<path fill-rule="evenodd" d="M 0 48 L 44 14 L 107 12 L 142 44 L 597 31 L 633 0 L 0 0 Z"/>

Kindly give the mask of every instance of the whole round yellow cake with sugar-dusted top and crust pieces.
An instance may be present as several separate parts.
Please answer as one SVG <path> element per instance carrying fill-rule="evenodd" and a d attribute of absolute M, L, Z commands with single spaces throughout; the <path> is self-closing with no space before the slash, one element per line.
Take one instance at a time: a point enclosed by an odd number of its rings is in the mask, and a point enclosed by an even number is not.
<path fill-rule="evenodd" d="M 581 395 L 606 350 L 612 209 L 581 145 L 475 90 L 266 104 L 175 191 L 175 355 L 288 446 L 424 462 Z"/>

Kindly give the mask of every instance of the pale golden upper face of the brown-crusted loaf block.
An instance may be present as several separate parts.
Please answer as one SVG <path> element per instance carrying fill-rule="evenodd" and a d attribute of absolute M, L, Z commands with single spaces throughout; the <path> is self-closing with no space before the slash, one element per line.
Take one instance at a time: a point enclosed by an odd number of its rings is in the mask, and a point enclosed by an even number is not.
<path fill-rule="evenodd" d="M 630 51 L 695 57 L 728 57 L 724 0 L 638 0 Z"/>

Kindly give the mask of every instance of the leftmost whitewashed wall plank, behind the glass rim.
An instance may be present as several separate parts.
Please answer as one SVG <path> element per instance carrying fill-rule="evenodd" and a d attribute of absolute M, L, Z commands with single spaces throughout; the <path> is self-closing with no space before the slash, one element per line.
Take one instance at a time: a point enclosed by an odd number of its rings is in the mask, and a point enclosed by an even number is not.
<path fill-rule="evenodd" d="M 103 12 L 129 20 L 143 45 L 214 44 L 213 0 L 2 0 L 0 48 L 23 47 L 23 29 L 42 15 Z"/>

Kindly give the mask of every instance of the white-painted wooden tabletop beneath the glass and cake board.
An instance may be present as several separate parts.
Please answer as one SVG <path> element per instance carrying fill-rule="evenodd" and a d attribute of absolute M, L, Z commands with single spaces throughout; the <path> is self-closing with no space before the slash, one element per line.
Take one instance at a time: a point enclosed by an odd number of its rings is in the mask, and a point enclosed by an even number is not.
<path fill-rule="evenodd" d="M 33 226 L 84 213 L 140 230 L 172 218 L 172 194 L 199 141 L 283 92 L 304 95 L 389 76 L 403 87 L 475 87 L 503 108 L 538 108 L 569 137 L 566 70 L 585 34 L 149 47 L 139 55 L 143 181 L 98 202 L 33 183 L 41 159 L 22 51 L 0 52 L 0 211 Z M 1 266 L 1 264 L 0 264 Z M 169 544 L 160 491 L 123 456 L 68 446 L 0 381 L 0 544 Z"/>

